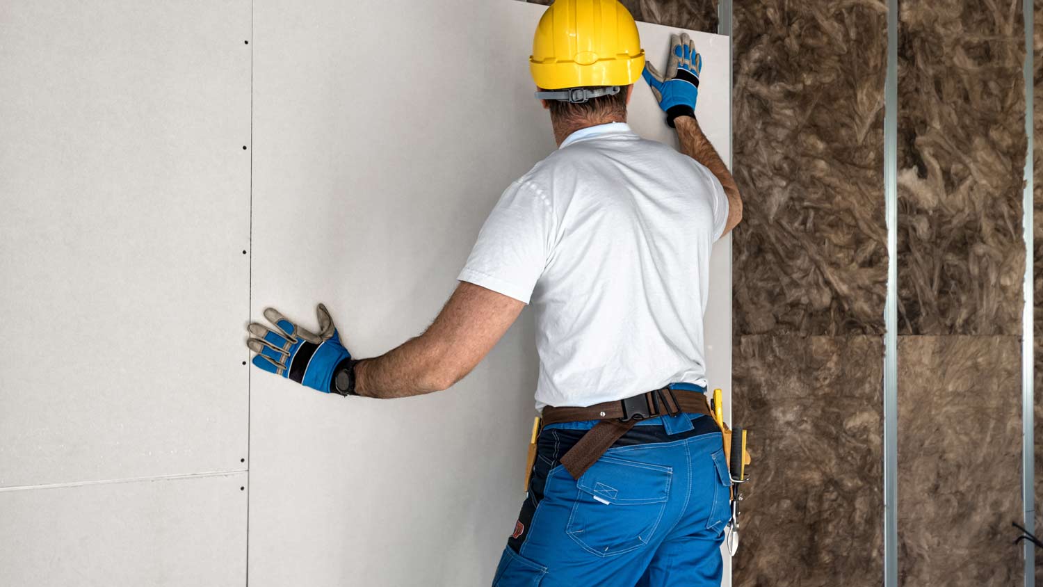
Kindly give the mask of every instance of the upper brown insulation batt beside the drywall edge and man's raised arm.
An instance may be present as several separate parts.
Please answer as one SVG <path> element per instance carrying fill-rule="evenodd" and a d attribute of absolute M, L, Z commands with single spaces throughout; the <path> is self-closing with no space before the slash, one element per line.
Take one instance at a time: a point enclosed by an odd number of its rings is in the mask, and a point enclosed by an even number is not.
<path fill-rule="evenodd" d="M 883 2 L 734 5 L 734 327 L 883 332 Z"/>

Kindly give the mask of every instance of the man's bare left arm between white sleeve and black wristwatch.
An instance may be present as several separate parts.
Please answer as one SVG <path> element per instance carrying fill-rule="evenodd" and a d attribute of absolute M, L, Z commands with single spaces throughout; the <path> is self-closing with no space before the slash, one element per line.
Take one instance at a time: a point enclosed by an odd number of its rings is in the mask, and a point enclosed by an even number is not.
<path fill-rule="evenodd" d="M 355 365 L 355 391 L 408 397 L 452 387 L 492 350 L 525 303 L 461 282 L 425 333 Z"/>

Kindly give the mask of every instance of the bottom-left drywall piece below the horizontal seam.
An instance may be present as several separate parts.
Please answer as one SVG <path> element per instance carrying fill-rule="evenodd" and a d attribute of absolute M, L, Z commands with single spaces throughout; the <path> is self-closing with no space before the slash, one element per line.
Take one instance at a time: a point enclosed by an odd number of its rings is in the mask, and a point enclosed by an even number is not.
<path fill-rule="evenodd" d="M 0 490 L 0 585 L 246 584 L 246 473 Z"/>

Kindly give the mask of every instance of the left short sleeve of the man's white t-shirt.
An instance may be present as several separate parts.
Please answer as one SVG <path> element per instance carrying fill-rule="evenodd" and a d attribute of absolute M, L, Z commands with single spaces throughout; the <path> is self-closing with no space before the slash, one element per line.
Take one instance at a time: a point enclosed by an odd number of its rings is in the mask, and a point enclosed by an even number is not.
<path fill-rule="evenodd" d="M 555 216 L 538 187 L 511 184 L 489 213 L 457 279 L 529 303 L 551 255 Z"/>

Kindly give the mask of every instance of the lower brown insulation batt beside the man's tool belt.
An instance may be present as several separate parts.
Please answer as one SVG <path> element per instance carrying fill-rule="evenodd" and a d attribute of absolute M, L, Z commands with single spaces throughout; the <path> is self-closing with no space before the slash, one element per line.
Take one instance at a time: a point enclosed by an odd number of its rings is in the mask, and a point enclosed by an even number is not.
<path fill-rule="evenodd" d="M 736 587 L 883 578 L 882 339 L 746 336 L 732 422 L 748 430 Z"/>

